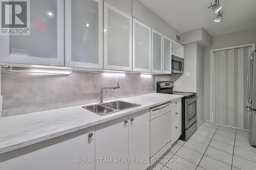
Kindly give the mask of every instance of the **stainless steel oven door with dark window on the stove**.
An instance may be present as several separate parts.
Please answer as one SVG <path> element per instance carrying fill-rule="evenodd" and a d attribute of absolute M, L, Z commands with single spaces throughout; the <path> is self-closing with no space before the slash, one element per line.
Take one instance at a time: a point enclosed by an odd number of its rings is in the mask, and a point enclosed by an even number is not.
<path fill-rule="evenodd" d="M 195 95 L 185 99 L 185 129 L 188 129 L 197 121 L 197 98 Z"/>

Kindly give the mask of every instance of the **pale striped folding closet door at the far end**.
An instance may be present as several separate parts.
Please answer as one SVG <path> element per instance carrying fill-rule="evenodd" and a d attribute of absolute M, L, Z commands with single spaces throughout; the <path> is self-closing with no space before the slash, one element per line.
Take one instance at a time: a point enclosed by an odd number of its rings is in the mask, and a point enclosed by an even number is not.
<path fill-rule="evenodd" d="M 247 64 L 252 47 L 213 53 L 212 122 L 248 129 Z"/>

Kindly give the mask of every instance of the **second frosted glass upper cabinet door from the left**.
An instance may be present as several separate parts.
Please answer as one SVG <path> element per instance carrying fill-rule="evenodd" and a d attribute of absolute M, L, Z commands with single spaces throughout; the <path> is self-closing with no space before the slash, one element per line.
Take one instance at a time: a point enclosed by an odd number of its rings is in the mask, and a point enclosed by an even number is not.
<path fill-rule="evenodd" d="M 65 65 L 103 68 L 103 1 L 66 0 Z"/>

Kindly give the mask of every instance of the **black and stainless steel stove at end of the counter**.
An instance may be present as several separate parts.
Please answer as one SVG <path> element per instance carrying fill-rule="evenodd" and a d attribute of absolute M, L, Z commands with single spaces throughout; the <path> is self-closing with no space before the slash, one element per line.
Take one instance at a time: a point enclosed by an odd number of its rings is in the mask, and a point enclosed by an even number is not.
<path fill-rule="evenodd" d="M 197 93 L 173 91 L 173 82 L 157 82 L 157 92 L 183 95 L 182 98 L 182 134 L 181 140 L 187 141 L 197 130 Z"/>

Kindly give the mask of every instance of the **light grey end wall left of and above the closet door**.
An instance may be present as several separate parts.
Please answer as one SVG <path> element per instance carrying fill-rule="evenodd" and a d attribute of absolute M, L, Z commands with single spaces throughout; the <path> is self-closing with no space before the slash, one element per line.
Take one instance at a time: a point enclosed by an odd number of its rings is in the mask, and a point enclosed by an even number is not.
<path fill-rule="evenodd" d="M 216 36 L 212 38 L 212 47 L 204 51 L 204 119 L 210 120 L 210 50 L 238 46 L 256 42 L 256 28 Z"/>

